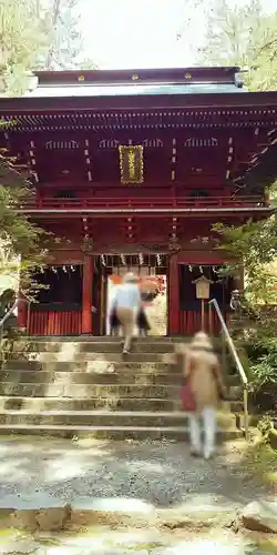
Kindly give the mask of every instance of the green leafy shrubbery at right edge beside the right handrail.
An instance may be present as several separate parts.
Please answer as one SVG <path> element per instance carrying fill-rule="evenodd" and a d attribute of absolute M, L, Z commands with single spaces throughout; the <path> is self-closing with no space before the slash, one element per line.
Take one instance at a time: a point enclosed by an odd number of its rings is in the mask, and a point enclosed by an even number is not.
<path fill-rule="evenodd" d="M 236 274 L 242 265 L 245 271 L 243 312 L 255 322 L 244 342 L 253 404 L 258 410 L 273 410 L 277 397 L 277 275 L 270 264 L 277 249 L 276 219 L 248 221 L 240 226 L 218 223 L 214 230 L 222 238 L 219 249 L 225 249 L 233 261 L 225 272 Z"/>

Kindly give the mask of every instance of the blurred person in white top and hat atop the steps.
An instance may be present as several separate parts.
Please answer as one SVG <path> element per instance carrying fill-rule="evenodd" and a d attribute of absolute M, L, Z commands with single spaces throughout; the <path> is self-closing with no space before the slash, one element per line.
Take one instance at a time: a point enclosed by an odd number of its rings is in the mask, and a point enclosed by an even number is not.
<path fill-rule="evenodd" d="M 135 274 L 130 272 L 125 274 L 123 284 L 117 286 L 110 306 L 110 314 L 115 312 L 123 329 L 123 354 L 127 354 L 130 352 L 135 319 L 138 310 L 141 309 L 141 304 L 142 299 L 138 289 L 138 279 Z"/>

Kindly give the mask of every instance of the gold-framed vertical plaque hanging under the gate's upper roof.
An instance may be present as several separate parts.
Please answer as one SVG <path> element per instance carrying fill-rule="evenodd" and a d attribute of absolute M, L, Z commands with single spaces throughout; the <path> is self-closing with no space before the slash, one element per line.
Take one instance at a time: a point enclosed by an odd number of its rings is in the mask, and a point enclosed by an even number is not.
<path fill-rule="evenodd" d="M 143 183 L 143 147 L 120 147 L 121 182 Z"/>

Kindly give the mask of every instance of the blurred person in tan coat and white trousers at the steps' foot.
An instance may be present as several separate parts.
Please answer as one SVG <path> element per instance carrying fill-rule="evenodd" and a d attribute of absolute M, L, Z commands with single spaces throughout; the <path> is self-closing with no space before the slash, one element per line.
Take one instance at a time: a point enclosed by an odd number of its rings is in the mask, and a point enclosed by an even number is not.
<path fill-rule="evenodd" d="M 185 380 L 193 392 L 196 410 L 188 414 L 192 455 L 208 460 L 215 450 L 216 406 L 225 396 L 222 371 L 208 335 L 198 332 L 187 346 Z M 201 441 L 201 418 L 204 424 L 204 446 Z"/>

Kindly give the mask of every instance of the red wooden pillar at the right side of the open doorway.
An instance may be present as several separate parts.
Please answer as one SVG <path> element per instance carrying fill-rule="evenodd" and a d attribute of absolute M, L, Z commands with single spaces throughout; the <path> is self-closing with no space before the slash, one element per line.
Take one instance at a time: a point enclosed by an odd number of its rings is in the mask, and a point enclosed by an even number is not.
<path fill-rule="evenodd" d="M 168 334 L 179 333 L 179 283 L 177 254 L 170 259 L 168 269 Z"/>

